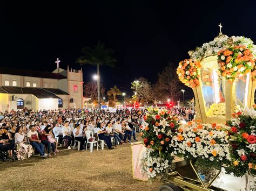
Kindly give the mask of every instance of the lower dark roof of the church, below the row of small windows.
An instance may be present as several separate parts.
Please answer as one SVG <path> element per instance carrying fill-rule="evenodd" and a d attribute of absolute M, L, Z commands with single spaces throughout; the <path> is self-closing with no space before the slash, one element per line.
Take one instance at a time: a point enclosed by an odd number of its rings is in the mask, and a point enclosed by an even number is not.
<path fill-rule="evenodd" d="M 0 93 L 5 94 L 33 94 L 37 98 L 59 98 L 55 95 L 69 95 L 65 91 L 55 88 L 29 88 L 29 87 L 13 87 L 0 86 Z"/>

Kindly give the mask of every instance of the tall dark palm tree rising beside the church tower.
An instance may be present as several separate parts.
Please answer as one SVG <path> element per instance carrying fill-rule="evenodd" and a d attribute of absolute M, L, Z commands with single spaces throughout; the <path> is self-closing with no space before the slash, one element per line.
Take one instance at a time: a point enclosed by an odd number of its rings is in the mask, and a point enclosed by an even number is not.
<path fill-rule="evenodd" d="M 95 65 L 97 66 L 97 91 L 98 91 L 98 107 L 100 109 L 100 75 L 99 66 L 110 66 L 114 67 L 116 65 L 116 59 L 113 58 L 114 51 L 111 49 L 106 49 L 103 43 L 98 41 L 95 48 L 84 47 L 82 53 L 85 55 L 80 56 L 77 59 L 77 63 L 80 65 Z"/>

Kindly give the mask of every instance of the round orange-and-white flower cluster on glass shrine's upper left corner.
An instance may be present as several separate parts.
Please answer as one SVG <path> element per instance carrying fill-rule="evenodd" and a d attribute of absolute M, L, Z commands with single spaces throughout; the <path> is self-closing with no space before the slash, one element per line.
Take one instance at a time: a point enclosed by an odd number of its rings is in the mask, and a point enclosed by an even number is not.
<path fill-rule="evenodd" d="M 179 67 L 177 68 L 177 74 L 179 80 L 183 82 L 186 86 L 195 88 L 199 85 L 199 61 L 194 61 L 192 59 L 185 59 L 179 62 Z"/>

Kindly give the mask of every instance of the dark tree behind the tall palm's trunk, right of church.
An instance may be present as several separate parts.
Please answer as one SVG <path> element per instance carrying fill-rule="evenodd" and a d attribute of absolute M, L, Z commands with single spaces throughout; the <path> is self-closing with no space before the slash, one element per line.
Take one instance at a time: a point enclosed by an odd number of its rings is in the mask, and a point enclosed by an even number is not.
<path fill-rule="evenodd" d="M 106 88 L 103 86 L 103 83 L 100 83 L 100 96 L 103 98 Z M 87 82 L 84 85 L 84 96 L 90 97 L 91 101 L 94 102 L 97 100 L 97 83 L 96 82 Z"/>

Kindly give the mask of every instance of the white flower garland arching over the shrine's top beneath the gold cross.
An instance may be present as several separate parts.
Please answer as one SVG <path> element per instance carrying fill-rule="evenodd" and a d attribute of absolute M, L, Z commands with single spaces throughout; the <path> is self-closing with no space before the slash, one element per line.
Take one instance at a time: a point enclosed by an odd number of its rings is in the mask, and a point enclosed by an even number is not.
<path fill-rule="evenodd" d="M 213 41 L 204 43 L 201 47 L 197 47 L 193 51 L 191 58 L 194 60 L 201 60 L 207 56 L 217 55 L 221 49 L 227 48 L 229 40 L 232 41 L 234 46 L 244 45 L 246 47 L 251 47 L 253 54 L 256 55 L 255 45 L 253 45 L 253 41 L 250 38 L 235 36 L 228 38 L 225 36 L 223 38 L 215 38 Z"/>

